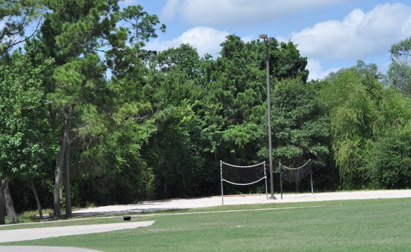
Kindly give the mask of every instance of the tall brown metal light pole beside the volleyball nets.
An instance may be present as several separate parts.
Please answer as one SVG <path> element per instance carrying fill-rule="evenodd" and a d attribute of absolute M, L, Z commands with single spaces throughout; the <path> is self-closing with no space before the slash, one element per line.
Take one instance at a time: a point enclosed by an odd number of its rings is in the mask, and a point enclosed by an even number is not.
<path fill-rule="evenodd" d="M 274 197 L 274 182 L 273 182 L 273 147 L 271 142 L 271 101 L 270 101 L 270 63 L 269 63 L 269 45 L 270 41 L 274 38 L 268 38 L 266 34 L 261 34 L 260 38 L 264 40 L 266 45 L 266 75 L 267 75 L 267 110 L 269 114 L 269 160 L 270 160 L 270 199 L 276 199 Z"/>

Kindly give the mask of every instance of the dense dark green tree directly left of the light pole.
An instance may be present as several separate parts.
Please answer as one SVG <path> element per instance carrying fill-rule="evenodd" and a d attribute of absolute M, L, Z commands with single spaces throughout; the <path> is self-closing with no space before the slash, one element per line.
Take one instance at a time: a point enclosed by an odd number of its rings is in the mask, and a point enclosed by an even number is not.
<path fill-rule="evenodd" d="M 206 65 L 204 119 L 208 128 L 203 133 L 211 141 L 210 149 L 226 162 L 253 162 L 256 125 L 264 114 L 262 101 L 266 97 L 265 75 L 258 60 L 262 47 L 234 35 L 227 36 L 221 45 L 221 58 Z"/>

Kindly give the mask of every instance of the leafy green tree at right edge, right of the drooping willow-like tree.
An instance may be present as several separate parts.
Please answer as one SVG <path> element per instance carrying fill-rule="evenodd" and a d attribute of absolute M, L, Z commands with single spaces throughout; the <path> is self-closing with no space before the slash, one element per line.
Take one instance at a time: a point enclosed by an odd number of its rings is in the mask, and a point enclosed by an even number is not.
<path fill-rule="evenodd" d="M 411 102 L 395 87 L 379 92 L 375 138 L 366 153 L 373 188 L 406 188 L 411 178 Z"/>

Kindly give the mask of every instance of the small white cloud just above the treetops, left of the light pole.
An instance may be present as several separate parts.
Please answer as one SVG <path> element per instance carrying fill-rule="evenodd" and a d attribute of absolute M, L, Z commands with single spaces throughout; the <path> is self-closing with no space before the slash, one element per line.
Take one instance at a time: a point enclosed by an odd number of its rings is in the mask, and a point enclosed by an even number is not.
<path fill-rule="evenodd" d="M 188 29 L 181 36 L 173 40 L 153 40 L 147 44 L 146 49 L 163 51 L 170 47 L 179 47 L 181 44 L 190 44 L 197 49 L 200 57 L 210 53 L 213 57 L 221 51 L 220 44 L 228 36 L 227 31 L 219 31 L 212 27 L 194 27 Z"/>

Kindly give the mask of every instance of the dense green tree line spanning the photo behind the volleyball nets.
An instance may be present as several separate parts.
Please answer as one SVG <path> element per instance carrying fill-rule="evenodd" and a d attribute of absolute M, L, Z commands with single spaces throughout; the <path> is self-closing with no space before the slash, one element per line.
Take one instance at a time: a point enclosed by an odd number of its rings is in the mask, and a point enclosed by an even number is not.
<path fill-rule="evenodd" d="M 1 223 L 36 205 L 61 218 L 61 206 L 219 194 L 219 160 L 268 160 L 262 40 L 227 36 L 217 58 L 147 51 L 166 26 L 140 5 L 12 3 L 0 5 Z M 308 81 L 297 45 L 271 42 L 273 160 L 311 159 L 316 190 L 409 188 L 410 52 L 410 38 L 393 45 L 386 75 L 359 61 Z"/>

